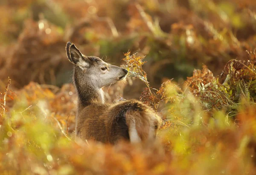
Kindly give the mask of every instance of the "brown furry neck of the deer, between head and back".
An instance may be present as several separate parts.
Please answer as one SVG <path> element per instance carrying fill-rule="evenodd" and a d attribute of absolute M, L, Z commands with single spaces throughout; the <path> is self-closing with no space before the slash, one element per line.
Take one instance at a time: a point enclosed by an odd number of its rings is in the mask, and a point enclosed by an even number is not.
<path fill-rule="evenodd" d="M 94 86 L 85 76 L 79 77 L 75 72 L 74 83 L 78 92 L 80 107 L 86 107 L 93 103 L 105 103 L 103 90 Z"/>

